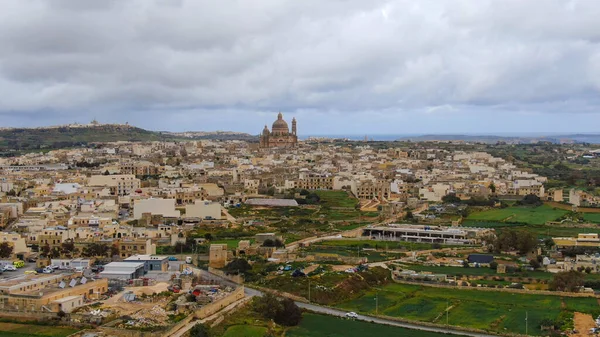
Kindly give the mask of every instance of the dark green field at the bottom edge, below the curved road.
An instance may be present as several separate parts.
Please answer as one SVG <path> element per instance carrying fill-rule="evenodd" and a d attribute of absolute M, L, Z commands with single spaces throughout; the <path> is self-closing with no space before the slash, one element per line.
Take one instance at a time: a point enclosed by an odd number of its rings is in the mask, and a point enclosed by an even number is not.
<path fill-rule="evenodd" d="M 449 336 L 443 333 L 411 330 L 311 313 L 305 313 L 302 317 L 302 322 L 300 322 L 300 325 L 298 327 L 289 329 L 285 335 L 288 337 L 364 337 L 365 335 L 377 337 Z M 452 336 L 460 337 L 458 335 Z"/>

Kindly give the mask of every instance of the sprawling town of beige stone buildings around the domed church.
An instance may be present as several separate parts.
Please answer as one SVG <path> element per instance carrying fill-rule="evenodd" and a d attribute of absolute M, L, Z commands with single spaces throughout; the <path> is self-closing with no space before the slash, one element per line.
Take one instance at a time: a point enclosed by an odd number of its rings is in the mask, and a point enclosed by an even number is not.
<path fill-rule="evenodd" d="M 0 158 L 0 318 L 70 336 L 317 335 L 327 315 L 464 336 L 598 330 L 594 190 L 486 152 L 501 145 L 303 141 L 299 125 L 279 113 L 254 141 Z"/>

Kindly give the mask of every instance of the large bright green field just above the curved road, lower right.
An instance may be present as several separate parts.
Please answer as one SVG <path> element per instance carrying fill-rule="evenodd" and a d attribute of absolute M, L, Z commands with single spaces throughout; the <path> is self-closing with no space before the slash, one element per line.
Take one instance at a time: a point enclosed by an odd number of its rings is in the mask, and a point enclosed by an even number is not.
<path fill-rule="evenodd" d="M 434 288 L 417 285 L 391 284 L 370 290 L 364 296 L 341 303 L 346 310 L 379 313 L 392 317 L 438 322 L 445 321 L 444 310 L 451 307 L 450 325 L 492 332 L 525 333 L 525 313 L 529 317 L 529 333 L 541 334 L 540 322 L 556 319 L 561 312 L 580 311 L 597 315 L 595 298 L 561 298 L 551 295 L 529 295 L 473 289 Z"/>

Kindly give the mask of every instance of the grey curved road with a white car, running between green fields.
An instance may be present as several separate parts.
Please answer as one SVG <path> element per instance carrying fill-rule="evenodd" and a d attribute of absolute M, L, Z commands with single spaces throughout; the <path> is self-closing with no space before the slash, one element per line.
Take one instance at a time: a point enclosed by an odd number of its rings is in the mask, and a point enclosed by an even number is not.
<path fill-rule="evenodd" d="M 258 291 L 256 289 L 252 289 L 252 288 L 248 288 L 247 286 L 244 286 L 244 290 L 247 296 L 251 297 L 251 296 L 262 296 L 262 292 Z M 314 305 L 314 304 L 308 304 L 308 303 L 304 303 L 304 302 L 296 302 L 296 305 L 298 305 L 300 308 L 312 311 L 312 312 L 316 312 L 319 314 L 325 314 L 325 315 L 331 315 L 331 316 L 337 316 L 337 317 L 345 317 L 346 312 L 347 311 L 343 311 L 343 310 L 338 310 L 338 309 L 333 309 L 333 308 L 328 308 L 328 307 L 322 307 L 320 305 Z M 454 329 L 445 329 L 445 328 L 438 328 L 438 327 L 433 327 L 433 326 L 426 326 L 426 325 L 419 325 L 419 324 L 414 324 L 414 323 L 405 323 L 405 322 L 398 322 L 398 321 L 393 321 L 393 320 L 389 320 L 389 319 L 384 319 L 384 318 L 378 318 L 378 317 L 373 317 L 373 316 L 365 316 L 365 315 L 358 315 L 358 318 L 356 318 L 359 321 L 365 321 L 365 322 L 373 322 L 376 324 L 383 324 L 383 325 L 390 325 L 390 326 L 396 326 L 399 328 L 407 328 L 407 329 L 413 329 L 413 330 L 422 330 L 422 331 L 431 331 L 431 332 L 438 332 L 438 333 L 446 333 L 446 334 L 452 334 L 452 335 L 459 335 L 459 336 L 469 336 L 469 337 L 497 337 L 497 335 L 490 335 L 490 334 L 485 334 L 485 333 L 478 333 L 478 332 L 468 332 L 468 331 L 461 331 L 461 330 L 454 330 Z"/>

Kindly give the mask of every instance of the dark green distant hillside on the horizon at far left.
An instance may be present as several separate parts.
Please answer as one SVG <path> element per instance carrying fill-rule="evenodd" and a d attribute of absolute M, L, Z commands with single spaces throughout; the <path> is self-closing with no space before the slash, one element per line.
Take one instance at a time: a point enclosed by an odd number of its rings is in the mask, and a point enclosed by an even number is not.
<path fill-rule="evenodd" d="M 0 129 L 0 155 L 59 149 L 94 142 L 156 141 L 173 136 L 124 124 L 57 126 L 47 128 Z"/>

